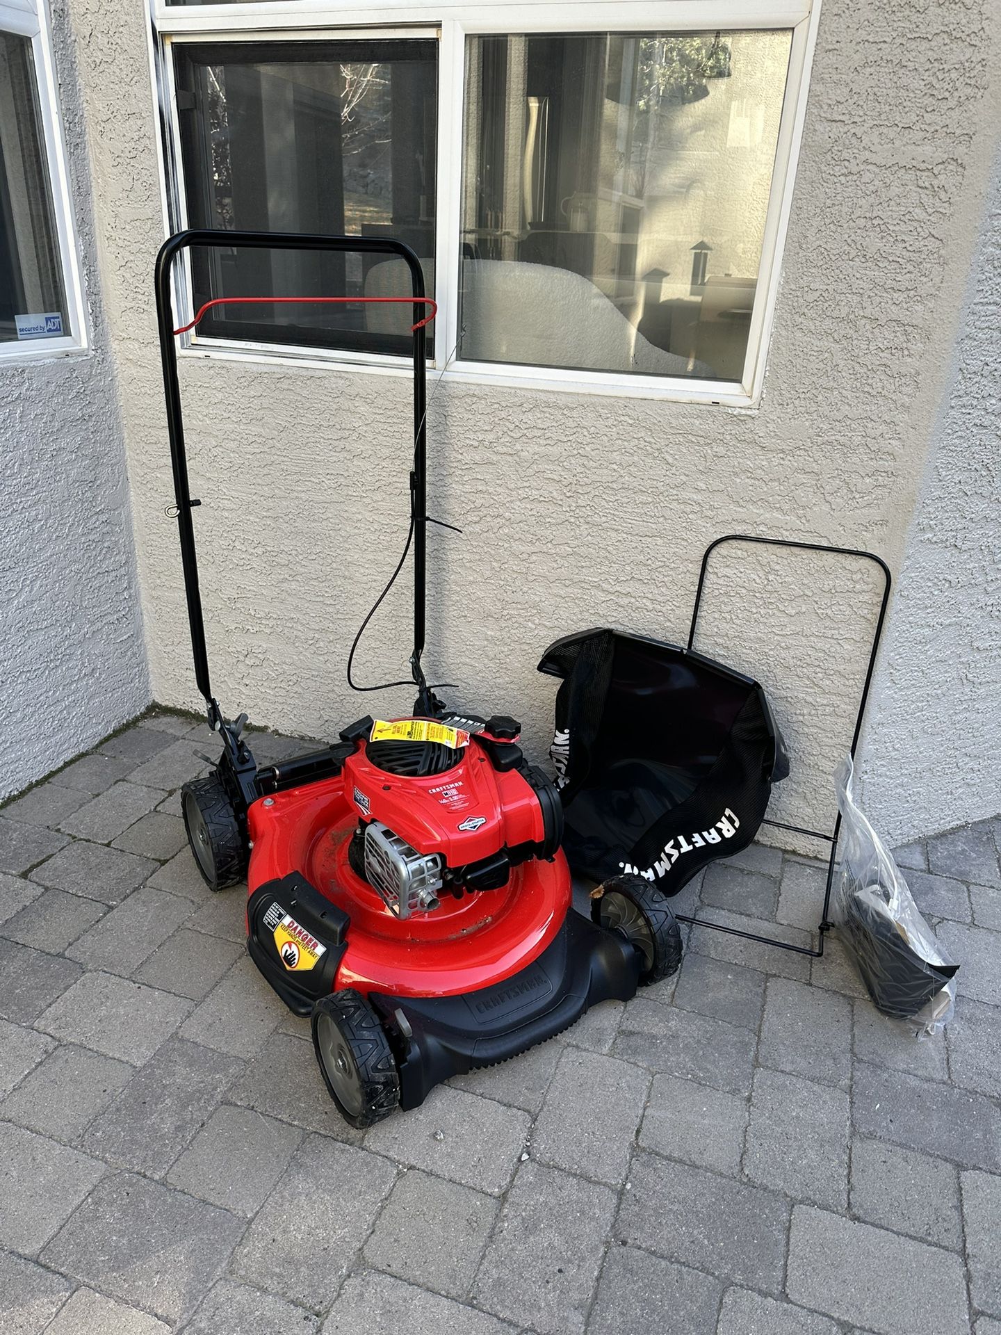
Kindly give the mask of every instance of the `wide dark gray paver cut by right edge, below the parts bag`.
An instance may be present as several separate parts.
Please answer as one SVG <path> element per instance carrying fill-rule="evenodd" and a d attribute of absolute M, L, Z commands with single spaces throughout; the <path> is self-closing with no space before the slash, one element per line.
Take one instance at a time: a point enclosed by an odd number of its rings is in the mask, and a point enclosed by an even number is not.
<path fill-rule="evenodd" d="M 877 1140 L 1001 1172 L 1001 1112 L 984 1095 L 857 1061 L 852 1117 Z"/>

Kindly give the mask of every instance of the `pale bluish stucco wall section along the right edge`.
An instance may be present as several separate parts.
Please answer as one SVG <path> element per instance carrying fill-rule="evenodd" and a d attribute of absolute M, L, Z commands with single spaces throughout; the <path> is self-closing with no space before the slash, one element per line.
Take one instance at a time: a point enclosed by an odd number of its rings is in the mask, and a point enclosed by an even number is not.
<path fill-rule="evenodd" d="M 1001 158 L 870 716 L 905 833 L 1001 808 Z"/>

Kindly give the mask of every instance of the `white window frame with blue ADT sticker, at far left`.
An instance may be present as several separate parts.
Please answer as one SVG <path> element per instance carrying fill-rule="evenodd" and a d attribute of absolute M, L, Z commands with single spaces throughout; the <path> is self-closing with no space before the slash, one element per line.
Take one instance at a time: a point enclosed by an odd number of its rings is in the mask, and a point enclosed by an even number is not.
<path fill-rule="evenodd" d="M 79 248 L 73 219 L 72 194 L 67 172 L 63 120 L 59 109 L 57 80 L 52 56 L 52 27 L 47 0 L 0 0 L 0 31 L 29 37 L 39 93 L 41 139 L 52 195 L 52 223 L 59 246 L 67 322 L 69 331 L 61 338 L 40 338 L 0 343 L 0 363 L 37 362 L 87 348 L 87 318 L 80 283 Z"/>

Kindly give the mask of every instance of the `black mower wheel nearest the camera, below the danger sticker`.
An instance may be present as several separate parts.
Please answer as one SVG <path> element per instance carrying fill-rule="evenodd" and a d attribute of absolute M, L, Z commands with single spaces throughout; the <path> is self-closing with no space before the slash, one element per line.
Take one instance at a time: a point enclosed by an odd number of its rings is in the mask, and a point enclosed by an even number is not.
<path fill-rule="evenodd" d="M 312 1045 L 344 1121 L 363 1129 L 399 1105 L 399 1072 L 379 1017 L 360 992 L 331 992 L 312 1009 Z"/>

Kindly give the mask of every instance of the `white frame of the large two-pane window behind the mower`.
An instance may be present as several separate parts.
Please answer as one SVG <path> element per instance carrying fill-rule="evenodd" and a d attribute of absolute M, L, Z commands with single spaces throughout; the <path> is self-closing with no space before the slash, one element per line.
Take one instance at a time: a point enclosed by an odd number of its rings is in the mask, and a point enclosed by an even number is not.
<path fill-rule="evenodd" d="M 3 0 L 0 0 L 3 3 Z M 774 320 L 782 248 L 793 199 L 810 65 L 821 0 L 443 0 L 436 5 L 384 0 L 378 7 L 336 0 L 251 0 L 239 4 L 168 5 L 151 3 L 149 57 L 159 117 L 164 235 L 187 226 L 171 48 L 182 41 L 274 40 L 276 37 L 438 36 L 438 199 L 435 212 L 435 359 L 450 380 L 551 388 L 575 394 L 674 399 L 755 407 Z M 533 32 L 714 32 L 789 29 L 789 73 L 778 128 L 775 163 L 765 220 L 761 264 L 741 383 L 681 376 L 633 375 L 452 358 L 459 318 L 459 232 L 462 206 L 466 39 L 482 33 Z M 176 298 L 182 323 L 192 318 L 190 275 L 182 268 Z M 232 339 L 184 335 L 182 356 L 226 356 L 290 364 L 352 367 L 407 374 L 406 358 L 339 350 L 290 348 Z M 447 363 L 447 364 L 446 364 Z"/>

